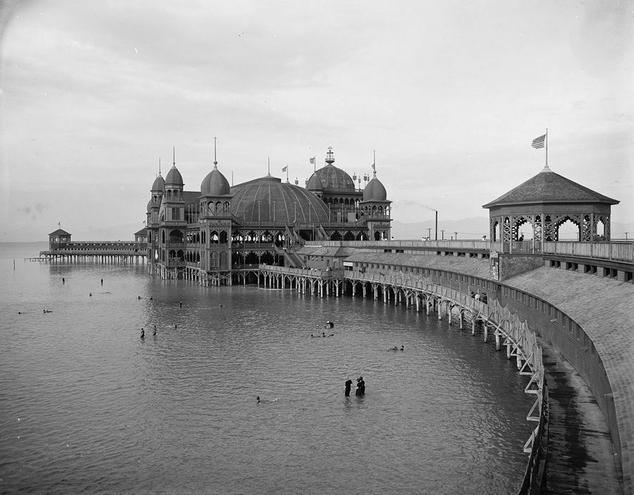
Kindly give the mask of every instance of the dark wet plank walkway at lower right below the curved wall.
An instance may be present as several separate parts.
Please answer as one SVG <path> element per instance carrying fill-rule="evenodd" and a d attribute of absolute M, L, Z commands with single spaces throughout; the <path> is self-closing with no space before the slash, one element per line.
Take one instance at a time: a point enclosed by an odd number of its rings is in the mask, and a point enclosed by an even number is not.
<path fill-rule="evenodd" d="M 610 432 L 592 392 L 557 350 L 540 345 L 550 407 L 546 493 L 623 495 Z"/>

